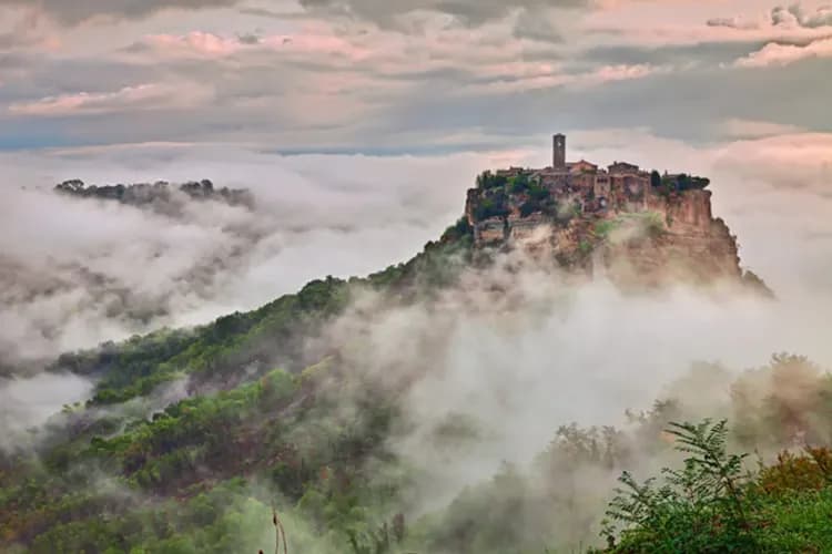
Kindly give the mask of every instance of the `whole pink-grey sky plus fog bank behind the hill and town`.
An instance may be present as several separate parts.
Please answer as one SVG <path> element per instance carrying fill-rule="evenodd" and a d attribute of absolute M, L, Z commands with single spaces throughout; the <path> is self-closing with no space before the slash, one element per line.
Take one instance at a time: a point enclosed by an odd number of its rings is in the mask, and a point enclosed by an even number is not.
<path fill-rule="evenodd" d="M 405 260 L 554 132 L 712 177 L 747 266 L 832 296 L 830 99 L 815 0 L 0 0 L 0 355 Z M 45 192 L 75 177 L 258 204 L 172 219 Z"/>

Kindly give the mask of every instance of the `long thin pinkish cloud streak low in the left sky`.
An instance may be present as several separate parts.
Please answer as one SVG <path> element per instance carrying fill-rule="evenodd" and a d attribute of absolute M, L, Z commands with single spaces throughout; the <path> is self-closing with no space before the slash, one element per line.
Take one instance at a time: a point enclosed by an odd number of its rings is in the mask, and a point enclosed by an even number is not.
<path fill-rule="evenodd" d="M 194 106 L 205 102 L 211 90 L 196 84 L 140 84 L 115 92 L 63 94 L 35 102 L 11 104 L 9 111 L 27 116 L 89 115 L 128 110 L 153 110 Z"/>

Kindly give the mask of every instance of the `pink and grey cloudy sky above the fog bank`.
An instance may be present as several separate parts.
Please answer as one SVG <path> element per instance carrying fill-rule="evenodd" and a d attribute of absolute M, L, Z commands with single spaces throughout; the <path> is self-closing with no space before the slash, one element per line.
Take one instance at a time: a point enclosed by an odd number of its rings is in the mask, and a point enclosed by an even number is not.
<path fill-rule="evenodd" d="M 805 0 L 0 0 L 0 148 L 425 153 L 832 126 Z"/>

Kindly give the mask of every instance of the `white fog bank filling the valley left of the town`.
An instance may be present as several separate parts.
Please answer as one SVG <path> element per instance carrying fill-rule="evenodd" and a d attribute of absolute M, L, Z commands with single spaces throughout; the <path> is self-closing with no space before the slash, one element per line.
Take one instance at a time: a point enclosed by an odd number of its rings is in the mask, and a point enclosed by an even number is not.
<path fill-rule="evenodd" d="M 0 361 L 206 322 L 317 277 L 398 263 L 459 216 L 475 168 L 490 165 L 458 155 L 410 160 L 403 172 L 399 161 L 381 158 L 146 148 L 126 160 L 104 151 L 3 161 L 11 171 L 0 205 Z M 168 216 L 51 192 L 74 176 L 88 184 L 206 176 L 250 188 L 256 207 L 186 203 Z"/>

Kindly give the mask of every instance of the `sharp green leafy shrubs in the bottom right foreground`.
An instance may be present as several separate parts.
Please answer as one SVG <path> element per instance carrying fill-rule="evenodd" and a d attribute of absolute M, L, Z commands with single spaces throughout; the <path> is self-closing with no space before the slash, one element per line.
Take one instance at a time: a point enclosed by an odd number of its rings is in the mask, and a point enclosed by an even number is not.
<path fill-rule="evenodd" d="M 832 550 L 832 453 L 806 447 L 780 454 L 757 474 L 748 454 L 728 454 L 727 422 L 672 423 L 680 469 L 664 482 L 629 473 L 610 503 L 608 552 L 829 552 Z M 619 532 L 616 523 L 623 524 Z M 619 538 L 620 537 L 620 538 Z"/>

